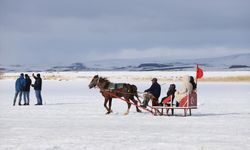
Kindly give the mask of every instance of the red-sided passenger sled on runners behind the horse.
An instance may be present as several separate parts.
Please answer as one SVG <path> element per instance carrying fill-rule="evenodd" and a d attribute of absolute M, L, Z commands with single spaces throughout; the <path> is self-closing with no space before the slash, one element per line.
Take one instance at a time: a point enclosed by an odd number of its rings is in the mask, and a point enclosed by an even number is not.
<path fill-rule="evenodd" d="M 192 109 L 197 109 L 197 93 L 193 91 L 191 94 L 183 97 L 179 103 L 179 106 L 172 104 L 172 97 L 169 96 L 163 100 L 163 106 L 152 106 L 152 111 L 154 115 L 166 115 L 169 116 L 169 110 L 174 111 L 175 109 L 183 109 L 184 116 L 191 116 Z M 165 113 L 164 113 L 165 110 Z M 189 111 L 189 114 L 188 114 Z M 159 113 L 160 112 L 160 113 Z M 172 113 L 173 115 L 173 113 Z"/>

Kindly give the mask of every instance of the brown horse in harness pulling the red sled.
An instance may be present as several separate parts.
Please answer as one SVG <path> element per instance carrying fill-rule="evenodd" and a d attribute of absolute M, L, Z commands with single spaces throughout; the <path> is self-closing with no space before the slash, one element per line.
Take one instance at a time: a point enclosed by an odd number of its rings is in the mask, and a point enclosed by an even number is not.
<path fill-rule="evenodd" d="M 135 85 L 127 84 L 127 83 L 112 83 L 106 78 L 99 77 L 98 75 L 95 75 L 91 82 L 89 83 L 89 88 L 98 87 L 100 89 L 100 92 L 102 96 L 104 97 L 104 107 L 107 109 L 106 114 L 110 114 L 112 112 L 111 106 L 112 106 L 112 98 L 118 98 L 123 97 L 128 104 L 128 109 L 124 113 L 124 115 L 127 115 L 129 113 L 129 109 L 131 107 L 130 100 L 137 105 L 137 101 L 134 99 L 134 96 L 139 100 L 138 94 L 137 94 L 137 87 Z M 112 93 L 112 94 L 109 94 Z M 109 106 L 107 106 L 107 103 L 109 102 Z M 141 112 L 141 110 L 136 106 L 137 112 Z"/>

